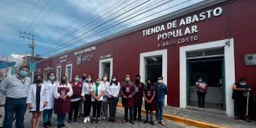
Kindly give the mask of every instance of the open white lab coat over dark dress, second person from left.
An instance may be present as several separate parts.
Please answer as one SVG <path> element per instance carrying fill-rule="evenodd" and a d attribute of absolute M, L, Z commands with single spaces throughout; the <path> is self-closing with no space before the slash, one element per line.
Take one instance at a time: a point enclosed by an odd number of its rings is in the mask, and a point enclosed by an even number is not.
<path fill-rule="evenodd" d="M 47 85 L 42 83 L 41 92 L 40 92 L 40 108 L 39 111 L 42 112 L 45 108 L 43 108 L 43 104 L 45 101 L 49 102 L 49 91 L 47 89 Z M 36 111 L 36 101 L 35 101 L 35 93 L 36 93 L 36 84 L 33 83 L 31 86 L 29 86 L 28 89 L 28 97 L 27 97 L 27 103 L 32 104 L 31 111 Z"/>

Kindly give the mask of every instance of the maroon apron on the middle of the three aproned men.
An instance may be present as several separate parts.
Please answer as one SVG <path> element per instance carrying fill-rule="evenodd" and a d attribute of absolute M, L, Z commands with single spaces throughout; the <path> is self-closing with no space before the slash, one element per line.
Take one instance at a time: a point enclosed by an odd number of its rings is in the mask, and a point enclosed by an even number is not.
<path fill-rule="evenodd" d="M 143 104 L 143 84 L 141 82 L 135 85 L 134 107 L 139 107 Z"/>

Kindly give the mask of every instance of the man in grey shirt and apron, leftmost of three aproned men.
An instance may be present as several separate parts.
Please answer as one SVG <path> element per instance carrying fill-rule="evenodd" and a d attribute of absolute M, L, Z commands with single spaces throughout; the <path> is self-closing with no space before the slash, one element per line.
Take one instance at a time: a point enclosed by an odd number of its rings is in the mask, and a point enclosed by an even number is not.
<path fill-rule="evenodd" d="M 130 75 L 125 75 L 125 82 L 121 84 L 122 105 L 124 106 L 124 120 L 122 121 L 122 123 L 128 122 L 129 111 L 130 123 L 134 124 L 134 122 L 132 121 L 132 114 L 135 93 L 135 84 L 131 82 Z"/>

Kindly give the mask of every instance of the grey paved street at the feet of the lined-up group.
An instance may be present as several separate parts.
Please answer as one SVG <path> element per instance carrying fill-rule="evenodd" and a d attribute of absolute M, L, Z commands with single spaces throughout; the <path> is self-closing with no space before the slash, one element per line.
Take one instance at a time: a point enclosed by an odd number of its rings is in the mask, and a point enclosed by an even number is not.
<path fill-rule="evenodd" d="M 92 124 L 92 123 L 83 123 L 83 119 L 80 118 L 78 119 L 78 122 L 77 123 L 67 123 L 65 122 L 65 125 L 66 127 L 68 128 L 78 128 L 78 127 L 90 127 L 90 128 L 94 128 L 94 127 L 97 127 L 97 128 L 103 128 L 103 127 L 106 127 L 106 128 L 135 128 L 135 127 L 175 127 L 175 128 L 184 128 L 184 127 L 191 127 L 191 126 L 187 126 L 185 124 L 182 124 L 182 123 L 175 123 L 175 122 L 172 122 L 172 121 L 167 121 L 165 120 L 165 124 L 166 126 L 161 126 L 161 124 L 157 124 L 157 125 L 154 125 L 154 126 L 151 126 L 150 123 L 139 123 L 139 122 L 135 122 L 135 125 L 132 125 L 131 123 L 120 123 L 121 119 L 123 119 L 124 117 L 124 109 L 122 108 L 118 108 L 117 109 L 117 122 L 116 123 L 109 123 L 107 122 L 107 119 L 106 120 L 102 120 L 100 123 L 96 124 Z M 32 117 L 32 114 L 31 113 L 26 113 L 25 115 L 25 120 L 24 120 L 24 126 L 25 128 L 29 128 L 31 127 L 31 117 Z M 67 118 L 67 116 L 66 116 Z M 143 118 L 145 118 L 145 115 L 143 114 Z M 54 115 L 54 118 L 52 119 L 52 123 L 53 123 L 53 126 L 52 127 L 57 127 L 57 117 L 56 115 Z M 43 127 L 43 124 L 41 123 L 39 125 L 39 127 Z"/>

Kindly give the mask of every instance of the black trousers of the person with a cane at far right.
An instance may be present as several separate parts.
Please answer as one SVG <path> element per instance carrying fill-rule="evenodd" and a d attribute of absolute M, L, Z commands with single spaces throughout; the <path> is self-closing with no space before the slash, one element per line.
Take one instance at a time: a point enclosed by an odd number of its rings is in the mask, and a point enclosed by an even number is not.
<path fill-rule="evenodd" d="M 234 100 L 234 113 L 237 118 L 247 119 L 247 99 Z"/>

